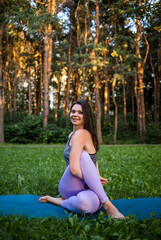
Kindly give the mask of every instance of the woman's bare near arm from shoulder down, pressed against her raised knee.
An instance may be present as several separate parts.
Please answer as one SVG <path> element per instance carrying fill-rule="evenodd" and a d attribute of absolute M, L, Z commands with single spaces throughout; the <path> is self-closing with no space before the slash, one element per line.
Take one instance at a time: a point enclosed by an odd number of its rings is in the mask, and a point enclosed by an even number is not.
<path fill-rule="evenodd" d="M 72 137 L 72 148 L 69 156 L 69 170 L 71 174 L 82 179 L 80 168 L 80 156 L 85 146 L 85 141 L 89 134 L 86 130 L 77 130 Z"/>

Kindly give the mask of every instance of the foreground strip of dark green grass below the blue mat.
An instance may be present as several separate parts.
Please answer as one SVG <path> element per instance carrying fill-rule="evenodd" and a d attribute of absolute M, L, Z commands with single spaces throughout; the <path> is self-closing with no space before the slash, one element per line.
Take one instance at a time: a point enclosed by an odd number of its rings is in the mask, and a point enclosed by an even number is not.
<path fill-rule="evenodd" d="M 26 219 L 24 217 L 1 217 L 1 239 L 5 240 L 123 240 L 159 239 L 161 220 L 144 220 L 139 223 L 135 218 L 126 221 L 87 221 L 69 219 Z"/>

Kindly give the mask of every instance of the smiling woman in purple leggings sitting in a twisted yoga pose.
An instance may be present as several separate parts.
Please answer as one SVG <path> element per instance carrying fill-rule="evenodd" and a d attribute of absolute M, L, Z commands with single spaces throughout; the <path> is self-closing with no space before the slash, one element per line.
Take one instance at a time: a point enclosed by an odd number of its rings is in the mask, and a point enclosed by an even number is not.
<path fill-rule="evenodd" d="M 92 111 L 89 104 L 78 100 L 71 106 L 70 120 L 73 132 L 64 150 L 67 168 L 59 183 L 61 198 L 40 197 L 40 202 L 50 202 L 75 213 L 94 213 L 100 206 L 111 218 L 124 216 L 108 199 L 103 186 L 107 183 L 99 175 L 96 153 L 98 140 L 94 132 Z"/>

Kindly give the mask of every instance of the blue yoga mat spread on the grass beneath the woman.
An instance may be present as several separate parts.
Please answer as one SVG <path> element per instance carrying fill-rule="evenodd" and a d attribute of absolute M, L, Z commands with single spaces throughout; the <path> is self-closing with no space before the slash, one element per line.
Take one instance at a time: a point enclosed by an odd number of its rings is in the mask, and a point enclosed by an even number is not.
<path fill-rule="evenodd" d="M 6 195 L 0 196 L 0 215 L 23 215 L 28 218 L 67 218 L 69 211 L 62 207 L 50 203 L 40 203 L 40 196 L 35 195 Z M 136 199 L 118 199 L 112 203 L 119 211 L 127 215 L 135 215 L 137 220 L 150 219 L 154 213 L 154 218 L 161 218 L 161 198 L 136 198 Z M 100 209 L 92 217 L 99 215 Z"/>

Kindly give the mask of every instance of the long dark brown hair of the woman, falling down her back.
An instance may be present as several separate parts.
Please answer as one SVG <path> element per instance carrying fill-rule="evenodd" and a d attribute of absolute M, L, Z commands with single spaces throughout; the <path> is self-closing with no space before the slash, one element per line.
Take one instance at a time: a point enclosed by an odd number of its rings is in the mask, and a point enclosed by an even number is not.
<path fill-rule="evenodd" d="M 75 104 L 79 104 L 82 106 L 83 111 L 83 117 L 84 117 L 84 129 L 86 129 L 92 136 L 93 145 L 96 149 L 96 152 L 99 150 L 99 144 L 98 144 L 98 138 L 94 130 L 94 123 L 93 123 L 93 114 L 92 109 L 90 105 L 84 101 L 84 100 L 77 100 L 74 102 L 70 108 L 70 111 L 72 110 L 72 107 Z"/>

